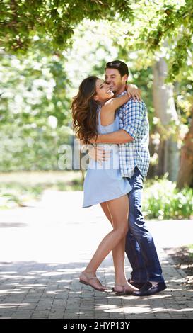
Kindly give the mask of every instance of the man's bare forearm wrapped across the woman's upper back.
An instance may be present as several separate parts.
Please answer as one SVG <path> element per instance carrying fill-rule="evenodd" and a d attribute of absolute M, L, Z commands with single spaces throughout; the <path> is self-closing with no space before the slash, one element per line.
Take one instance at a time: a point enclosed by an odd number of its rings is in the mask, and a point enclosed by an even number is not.
<path fill-rule="evenodd" d="M 134 139 L 125 130 L 118 130 L 109 134 L 99 134 L 95 143 L 127 143 Z"/>

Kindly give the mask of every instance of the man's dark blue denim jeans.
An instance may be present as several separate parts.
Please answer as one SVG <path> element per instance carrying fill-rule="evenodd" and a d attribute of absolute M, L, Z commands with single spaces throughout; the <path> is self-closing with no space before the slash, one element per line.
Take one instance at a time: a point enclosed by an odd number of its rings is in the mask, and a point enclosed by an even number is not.
<path fill-rule="evenodd" d="M 126 237 L 125 252 L 132 267 L 131 278 L 136 282 L 163 282 L 156 247 L 141 211 L 143 176 L 136 167 L 134 176 L 127 179 L 132 190 L 128 194 L 129 232 Z"/>

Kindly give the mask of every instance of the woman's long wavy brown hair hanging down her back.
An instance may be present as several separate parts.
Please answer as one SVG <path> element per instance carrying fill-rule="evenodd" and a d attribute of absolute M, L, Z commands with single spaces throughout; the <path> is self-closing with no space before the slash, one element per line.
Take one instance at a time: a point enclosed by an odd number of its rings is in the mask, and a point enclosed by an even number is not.
<path fill-rule="evenodd" d="M 93 96 L 96 94 L 95 84 L 98 77 L 87 77 L 79 86 L 78 94 L 71 104 L 73 129 L 76 136 L 83 143 L 90 143 L 90 139 L 97 136 L 97 108 L 98 103 Z"/>

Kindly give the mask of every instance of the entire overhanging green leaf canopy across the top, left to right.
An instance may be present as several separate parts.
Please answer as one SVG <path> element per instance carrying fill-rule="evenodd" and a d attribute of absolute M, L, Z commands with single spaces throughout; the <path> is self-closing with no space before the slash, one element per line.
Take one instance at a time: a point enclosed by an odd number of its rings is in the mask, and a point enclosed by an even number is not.
<path fill-rule="evenodd" d="M 150 53 L 168 43 L 170 79 L 192 57 L 192 0 L 4 0 L 0 42 L 8 52 L 25 53 L 36 40 L 55 51 L 65 50 L 83 18 L 113 22 L 117 17 L 129 22 L 124 36 L 128 43 L 134 38 L 136 46 Z"/>

